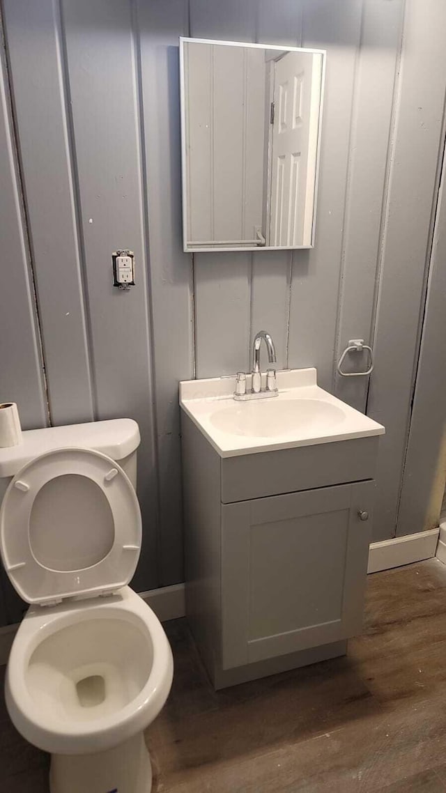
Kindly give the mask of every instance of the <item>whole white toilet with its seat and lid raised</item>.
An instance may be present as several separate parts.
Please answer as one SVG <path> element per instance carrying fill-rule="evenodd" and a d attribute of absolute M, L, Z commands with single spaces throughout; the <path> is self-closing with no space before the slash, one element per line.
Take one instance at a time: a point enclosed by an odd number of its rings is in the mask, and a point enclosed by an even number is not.
<path fill-rule="evenodd" d="M 51 754 L 51 793 L 149 793 L 144 730 L 171 689 L 163 627 L 129 587 L 140 556 L 132 419 L 23 433 L 0 449 L 0 551 L 30 604 L 6 706 Z"/>

